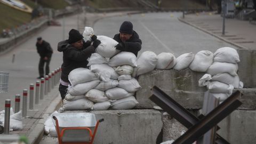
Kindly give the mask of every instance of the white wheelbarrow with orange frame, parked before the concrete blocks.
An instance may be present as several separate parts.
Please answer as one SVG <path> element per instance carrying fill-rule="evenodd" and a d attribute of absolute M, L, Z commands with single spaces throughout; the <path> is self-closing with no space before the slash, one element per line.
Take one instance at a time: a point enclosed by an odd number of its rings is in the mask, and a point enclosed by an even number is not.
<path fill-rule="evenodd" d="M 59 113 L 52 116 L 59 144 L 93 143 L 100 122 L 91 113 Z"/>

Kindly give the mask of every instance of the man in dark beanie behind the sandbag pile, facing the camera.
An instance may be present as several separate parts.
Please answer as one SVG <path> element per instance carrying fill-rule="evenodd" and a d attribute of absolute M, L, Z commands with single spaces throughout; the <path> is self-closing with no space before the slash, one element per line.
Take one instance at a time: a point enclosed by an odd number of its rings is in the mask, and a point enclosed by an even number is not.
<path fill-rule="evenodd" d="M 116 34 L 115 39 L 118 44 L 115 46 L 117 50 L 132 52 L 138 55 L 141 50 L 141 40 L 136 31 L 133 30 L 133 25 L 130 21 L 124 21 L 119 29 L 119 34 Z"/>

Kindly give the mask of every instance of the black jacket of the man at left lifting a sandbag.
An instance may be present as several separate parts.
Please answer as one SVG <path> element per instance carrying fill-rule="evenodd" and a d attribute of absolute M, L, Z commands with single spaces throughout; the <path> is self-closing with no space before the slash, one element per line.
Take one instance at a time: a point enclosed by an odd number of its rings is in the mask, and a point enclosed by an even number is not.
<path fill-rule="evenodd" d="M 61 65 L 61 79 L 68 81 L 68 74 L 76 68 L 86 68 L 91 54 L 95 52 L 90 43 L 84 43 L 82 49 L 76 49 L 68 43 L 68 40 L 58 43 L 58 51 L 63 52 L 63 63 Z"/>

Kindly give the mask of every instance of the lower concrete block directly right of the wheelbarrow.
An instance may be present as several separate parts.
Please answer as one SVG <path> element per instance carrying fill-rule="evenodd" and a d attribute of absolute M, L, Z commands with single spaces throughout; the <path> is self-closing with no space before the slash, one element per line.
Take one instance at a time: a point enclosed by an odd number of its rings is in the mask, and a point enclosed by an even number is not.
<path fill-rule="evenodd" d="M 92 111 L 99 124 L 94 143 L 156 143 L 163 123 L 157 110 L 99 110 Z"/>

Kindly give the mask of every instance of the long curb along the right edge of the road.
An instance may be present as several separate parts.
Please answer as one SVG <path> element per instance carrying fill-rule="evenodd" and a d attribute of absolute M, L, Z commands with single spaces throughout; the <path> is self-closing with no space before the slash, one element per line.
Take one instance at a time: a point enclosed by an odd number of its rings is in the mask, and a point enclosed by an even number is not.
<path fill-rule="evenodd" d="M 208 30 L 205 30 L 205 29 L 203 29 L 203 28 L 200 28 L 200 27 L 198 27 L 198 26 L 196 26 L 196 25 L 194 25 L 194 24 L 192 24 L 192 23 L 190 23 L 190 22 L 184 20 L 184 19 L 181 18 L 181 17 L 179 17 L 178 20 L 181 21 L 181 22 L 183 22 L 183 23 L 186 23 L 187 25 L 190 25 L 190 26 L 192 26 L 192 27 L 194 27 L 194 28 L 196 28 L 196 29 L 199 29 L 199 30 L 201 30 L 201 31 L 204 31 L 204 33 L 207 33 L 207 34 L 210 34 L 210 35 L 212 35 L 212 36 L 214 36 L 214 37 L 216 37 L 216 38 L 219 38 L 220 40 L 222 40 L 222 41 L 224 41 L 224 42 L 226 42 L 226 43 L 235 45 L 235 46 L 237 46 L 239 49 L 249 50 L 247 47 L 244 47 L 244 46 L 242 46 L 242 45 L 239 45 L 239 44 L 230 42 L 230 41 L 228 41 L 228 40 L 225 39 L 225 38 L 222 38 L 222 37 L 220 37 L 220 36 L 218 36 L 218 35 L 215 35 L 215 34 L 211 33 L 211 32 L 208 31 Z"/>

